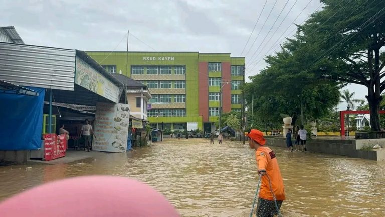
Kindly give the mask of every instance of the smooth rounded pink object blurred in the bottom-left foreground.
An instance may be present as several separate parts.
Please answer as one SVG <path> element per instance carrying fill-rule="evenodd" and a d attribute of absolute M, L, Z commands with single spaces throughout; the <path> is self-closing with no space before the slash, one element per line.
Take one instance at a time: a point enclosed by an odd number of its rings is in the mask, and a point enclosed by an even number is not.
<path fill-rule="evenodd" d="M 180 216 L 168 200 L 139 181 L 85 176 L 50 182 L 0 203 L 2 217 Z"/>

